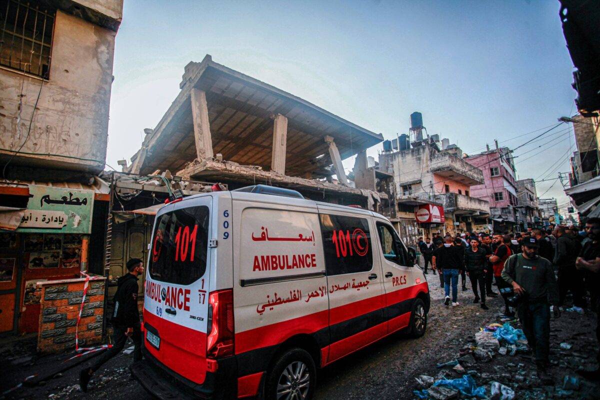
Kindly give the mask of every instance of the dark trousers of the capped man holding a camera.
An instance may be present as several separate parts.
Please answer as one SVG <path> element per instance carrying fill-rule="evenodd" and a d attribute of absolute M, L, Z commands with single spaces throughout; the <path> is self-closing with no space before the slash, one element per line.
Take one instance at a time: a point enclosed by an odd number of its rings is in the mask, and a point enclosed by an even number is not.
<path fill-rule="evenodd" d="M 550 363 L 550 305 L 545 302 L 524 301 L 517 307 L 527 344 L 535 353 L 535 362 Z"/>

